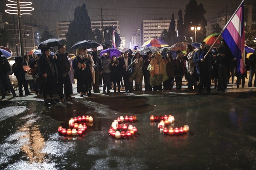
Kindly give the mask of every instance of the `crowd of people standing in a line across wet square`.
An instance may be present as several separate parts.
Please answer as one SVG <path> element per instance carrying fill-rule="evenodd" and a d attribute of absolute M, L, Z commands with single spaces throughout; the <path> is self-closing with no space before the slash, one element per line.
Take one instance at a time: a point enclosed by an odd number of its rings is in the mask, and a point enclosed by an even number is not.
<path fill-rule="evenodd" d="M 41 54 L 15 57 L 13 72 L 17 77 L 19 96 L 35 94 L 44 97 L 44 105 L 53 105 L 56 102 L 52 98 L 53 94 L 58 94 L 59 102 L 64 99 L 74 99 L 72 84 L 77 83 L 77 93 L 80 97 L 90 96 L 91 91 L 99 93 L 99 87 L 103 81 L 103 93 L 121 91 L 124 85 L 126 93 L 133 91 L 143 91 L 143 78 L 145 91 L 171 91 L 176 85 L 176 90 L 182 89 L 182 80 L 187 80 L 189 91 L 202 93 L 206 88 L 208 94 L 211 93 L 211 83 L 214 81 L 214 88 L 218 91 L 226 91 L 227 84 L 233 74 L 237 77 L 236 85 L 244 87 L 247 71 L 250 71 L 248 87 L 252 87 L 253 76 L 256 73 L 256 52 L 245 59 L 244 73 L 235 71 L 236 59 L 227 47 L 224 40 L 221 47 L 213 51 L 201 42 L 197 51 L 191 44 L 187 44 L 186 53 L 176 51 L 177 57 L 172 51 L 162 53 L 152 53 L 148 51 L 141 55 L 136 51 L 128 50 L 120 56 L 111 53 L 99 55 L 97 48 L 92 48 L 88 54 L 86 48 L 77 48 L 76 57 L 70 59 L 65 45 L 60 45 L 58 51 L 51 55 L 50 48 L 41 49 Z M 29 66 L 34 72 L 25 70 L 23 66 Z M 14 97 L 17 97 L 9 79 L 11 71 L 6 57 L 0 57 L 0 83 L 2 99 L 5 98 L 5 91 L 9 89 Z M 32 75 L 32 79 L 26 79 L 26 74 Z M 231 76 L 230 76 L 231 73 Z M 30 86 L 30 90 L 28 88 Z M 117 86 L 117 87 L 116 87 Z M 256 79 L 254 79 L 256 87 Z M 49 95 L 49 100 L 47 100 Z"/>

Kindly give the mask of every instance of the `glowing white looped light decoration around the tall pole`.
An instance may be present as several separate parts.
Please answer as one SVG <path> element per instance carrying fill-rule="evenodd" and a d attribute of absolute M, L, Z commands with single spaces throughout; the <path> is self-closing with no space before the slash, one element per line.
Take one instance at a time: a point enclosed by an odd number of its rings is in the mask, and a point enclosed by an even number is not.
<path fill-rule="evenodd" d="M 8 14 L 18 14 L 17 1 L 8 0 L 11 3 L 7 3 L 6 6 L 12 9 L 6 9 Z M 31 13 L 23 13 L 27 11 L 33 11 L 34 8 L 28 7 L 32 5 L 32 2 L 20 2 L 20 15 L 31 15 Z"/>

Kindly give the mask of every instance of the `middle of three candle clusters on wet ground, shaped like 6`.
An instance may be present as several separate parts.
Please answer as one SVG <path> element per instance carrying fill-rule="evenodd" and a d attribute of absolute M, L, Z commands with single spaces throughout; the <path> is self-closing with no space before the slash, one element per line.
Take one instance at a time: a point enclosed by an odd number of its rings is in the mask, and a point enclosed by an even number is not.
<path fill-rule="evenodd" d="M 137 133 L 137 127 L 129 124 L 136 120 L 136 116 L 120 116 L 112 122 L 108 134 L 116 139 L 128 139 Z"/>

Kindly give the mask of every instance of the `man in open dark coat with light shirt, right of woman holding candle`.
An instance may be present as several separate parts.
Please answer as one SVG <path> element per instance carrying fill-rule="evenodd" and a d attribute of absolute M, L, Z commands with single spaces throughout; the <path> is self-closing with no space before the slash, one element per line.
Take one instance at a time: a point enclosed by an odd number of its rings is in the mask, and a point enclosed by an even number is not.
<path fill-rule="evenodd" d="M 124 80 L 124 84 L 125 84 L 125 92 L 127 92 L 129 90 L 129 76 L 130 73 L 128 71 L 128 65 L 131 64 L 131 58 L 129 58 L 129 54 L 127 51 L 125 51 L 125 57 L 120 59 L 120 70 L 121 70 L 121 74 Z"/>

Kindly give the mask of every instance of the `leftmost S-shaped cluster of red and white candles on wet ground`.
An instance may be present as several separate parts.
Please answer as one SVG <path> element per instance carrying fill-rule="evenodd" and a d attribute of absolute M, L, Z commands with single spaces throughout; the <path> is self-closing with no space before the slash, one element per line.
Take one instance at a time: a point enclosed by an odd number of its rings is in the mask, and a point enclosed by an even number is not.
<path fill-rule="evenodd" d="M 84 136 L 87 126 L 93 126 L 92 116 L 77 116 L 68 121 L 69 128 L 58 127 L 61 136 Z"/>

